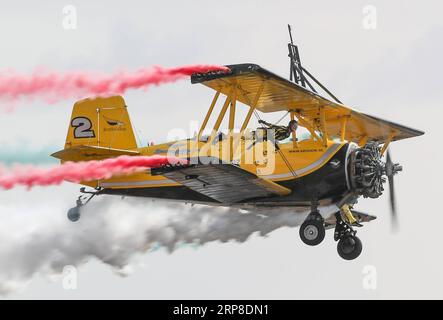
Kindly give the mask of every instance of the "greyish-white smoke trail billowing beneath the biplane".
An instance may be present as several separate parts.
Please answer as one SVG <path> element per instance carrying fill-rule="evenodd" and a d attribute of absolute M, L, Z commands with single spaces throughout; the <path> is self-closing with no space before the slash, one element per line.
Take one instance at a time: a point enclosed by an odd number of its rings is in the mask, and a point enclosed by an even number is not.
<path fill-rule="evenodd" d="M 282 211 L 265 216 L 227 208 L 211 208 L 147 199 L 100 196 L 69 222 L 67 208 L 0 206 L 0 294 L 7 294 L 35 274 L 61 273 L 66 265 L 98 259 L 123 270 L 136 253 L 159 245 L 211 241 L 244 242 L 281 227 L 300 225 L 307 212 Z"/>

